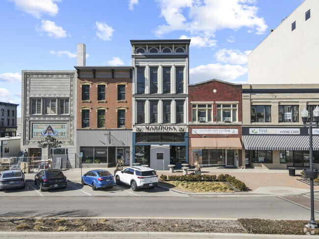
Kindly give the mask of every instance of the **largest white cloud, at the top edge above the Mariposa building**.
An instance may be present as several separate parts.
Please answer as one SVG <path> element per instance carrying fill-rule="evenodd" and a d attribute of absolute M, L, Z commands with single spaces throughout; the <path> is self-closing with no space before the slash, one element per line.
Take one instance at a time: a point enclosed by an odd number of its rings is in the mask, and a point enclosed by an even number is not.
<path fill-rule="evenodd" d="M 159 0 L 161 16 L 166 24 L 158 26 L 155 34 L 159 37 L 184 30 L 192 37 L 201 36 L 212 40 L 221 29 L 237 30 L 241 27 L 263 34 L 267 25 L 258 17 L 255 0 Z M 206 44 L 206 46 L 210 46 Z"/>

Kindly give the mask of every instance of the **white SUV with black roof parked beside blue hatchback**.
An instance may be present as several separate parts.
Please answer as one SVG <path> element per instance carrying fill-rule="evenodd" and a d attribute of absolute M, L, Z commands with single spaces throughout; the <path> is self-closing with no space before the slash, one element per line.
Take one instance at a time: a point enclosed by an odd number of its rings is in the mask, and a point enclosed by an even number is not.
<path fill-rule="evenodd" d="M 153 168 L 134 166 L 115 173 L 117 185 L 121 183 L 131 186 L 133 191 L 139 188 L 155 188 L 159 183 L 158 175 Z"/>

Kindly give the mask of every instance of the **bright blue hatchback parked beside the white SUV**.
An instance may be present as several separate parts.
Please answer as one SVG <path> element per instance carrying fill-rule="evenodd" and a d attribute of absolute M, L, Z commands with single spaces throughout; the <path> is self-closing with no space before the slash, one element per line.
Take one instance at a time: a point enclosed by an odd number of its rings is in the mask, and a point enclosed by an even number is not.
<path fill-rule="evenodd" d="M 92 190 L 113 188 L 115 185 L 114 176 L 105 169 L 95 169 L 88 171 L 82 176 L 82 185 L 89 185 Z"/>

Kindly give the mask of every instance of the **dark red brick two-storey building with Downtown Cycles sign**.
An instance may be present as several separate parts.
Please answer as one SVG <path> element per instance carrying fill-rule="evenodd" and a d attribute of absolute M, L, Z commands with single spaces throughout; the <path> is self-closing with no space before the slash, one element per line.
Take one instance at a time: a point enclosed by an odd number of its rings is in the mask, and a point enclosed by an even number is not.
<path fill-rule="evenodd" d="M 188 85 L 189 164 L 241 167 L 241 85 L 209 80 Z"/>

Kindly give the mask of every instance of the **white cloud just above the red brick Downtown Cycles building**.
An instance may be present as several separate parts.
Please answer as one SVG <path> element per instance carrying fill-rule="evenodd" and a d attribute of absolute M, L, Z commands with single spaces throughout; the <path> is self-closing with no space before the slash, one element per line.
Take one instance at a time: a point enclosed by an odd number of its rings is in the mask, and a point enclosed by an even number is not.
<path fill-rule="evenodd" d="M 201 65 L 189 70 L 190 83 L 201 82 L 210 79 L 232 81 L 245 75 L 247 68 L 239 65 L 222 65 L 220 63 Z"/>

